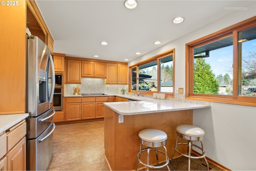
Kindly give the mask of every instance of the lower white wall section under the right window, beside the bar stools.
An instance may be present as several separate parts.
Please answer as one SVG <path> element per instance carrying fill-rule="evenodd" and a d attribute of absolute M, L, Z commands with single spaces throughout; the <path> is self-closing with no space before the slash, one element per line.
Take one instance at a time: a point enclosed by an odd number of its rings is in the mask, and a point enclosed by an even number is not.
<path fill-rule="evenodd" d="M 194 110 L 193 121 L 205 131 L 207 157 L 231 170 L 256 170 L 256 107 L 211 103 Z"/>

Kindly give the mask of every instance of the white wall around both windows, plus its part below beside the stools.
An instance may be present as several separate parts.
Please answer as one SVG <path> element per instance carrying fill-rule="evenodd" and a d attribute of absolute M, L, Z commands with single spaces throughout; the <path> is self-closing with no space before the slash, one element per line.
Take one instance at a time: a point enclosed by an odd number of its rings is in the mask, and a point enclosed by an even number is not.
<path fill-rule="evenodd" d="M 211 24 L 129 62 L 128 66 L 175 48 L 174 89 L 185 88 L 185 44 L 256 16 L 255 1 L 246 7 L 247 10 L 235 10 Z M 206 156 L 231 170 L 256 170 L 255 121 L 256 107 L 226 103 L 211 103 L 211 108 L 195 109 L 193 115 L 194 125 L 202 127 L 206 132 L 204 138 Z"/>

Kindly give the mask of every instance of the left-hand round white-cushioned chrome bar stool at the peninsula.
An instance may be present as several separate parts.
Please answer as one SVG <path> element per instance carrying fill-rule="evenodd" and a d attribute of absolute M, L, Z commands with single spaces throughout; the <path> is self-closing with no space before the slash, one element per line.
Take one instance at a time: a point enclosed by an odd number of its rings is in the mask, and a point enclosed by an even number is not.
<path fill-rule="evenodd" d="M 167 140 L 167 134 L 164 131 L 158 130 L 158 129 L 144 129 L 139 132 L 139 137 L 140 137 L 140 151 L 137 154 L 137 162 L 135 166 L 135 170 L 137 170 L 137 164 L 140 162 L 142 165 L 147 167 L 147 171 L 149 168 L 151 169 L 160 169 L 162 167 L 167 167 L 168 170 L 170 171 L 170 168 L 168 166 L 169 164 L 169 157 L 167 155 L 167 150 L 166 150 L 166 140 Z M 148 148 L 141 149 L 141 146 L 145 145 Z M 163 147 L 165 152 L 160 151 L 157 149 L 158 147 Z M 149 165 L 149 152 L 150 150 L 156 151 L 156 166 L 154 165 Z M 141 153 L 143 151 L 147 151 L 147 163 L 144 163 L 140 160 Z M 158 152 L 162 153 L 165 155 L 165 162 L 163 165 L 158 165 Z"/>

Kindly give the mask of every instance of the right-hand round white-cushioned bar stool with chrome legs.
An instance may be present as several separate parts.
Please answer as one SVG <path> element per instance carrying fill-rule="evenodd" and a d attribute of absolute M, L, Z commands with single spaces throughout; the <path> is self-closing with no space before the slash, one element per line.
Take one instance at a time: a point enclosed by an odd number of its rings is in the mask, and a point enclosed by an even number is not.
<path fill-rule="evenodd" d="M 188 170 L 190 171 L 190 158 L 191 159 L 202 159 L 204 158 L 204 161 L 207 165 L 207 170 L 209 170 L 209 164 L 206 160 L 206 153 L 204 152 L 204 144 L 202 142 L 202 140 L 204 139 L 204 130 L 201 129 L 200 127 L 196 127 L 194 125 L 178 125 L 176 127 L 176 131 L 177 131 L 177 138 L 176 138 L 176 143 L 174 146 L 174 152 L 172 153 L 172 159 L 173 156 L 175 154 L 175 152 L 178 152 L 180 155 L 183 155 L 185 157 L 188 157 Z M 183 138 L 188 140 L 187 143 L 177 143 L 178 142 L 178 138 Z M 201 142 L 201 147 L 199 147 L 198 145 L 192 144 L 191 141 L 200 141 Z M 177 146 L 181 145 L 181 144 L 186 144 L 188 145 L 188 154 L 183 154 L 180 151 L 178 151 Z M 200 156 L 191 156 L 191 145 L 194 147 L 197 147 L 198 149 L 202 150 L 202 155 Z M 171 159 L 171 164 L 172 164 L 172 159 Z"/>

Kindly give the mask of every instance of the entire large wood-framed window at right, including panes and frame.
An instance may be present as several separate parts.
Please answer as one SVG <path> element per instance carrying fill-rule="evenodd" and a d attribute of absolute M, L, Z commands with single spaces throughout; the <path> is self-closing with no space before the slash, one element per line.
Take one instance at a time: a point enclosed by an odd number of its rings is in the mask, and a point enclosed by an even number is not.
<path fill-rule="evenodd" d="M 256 106 L 256 17 L 186 44 L 186 98 Z"/>

